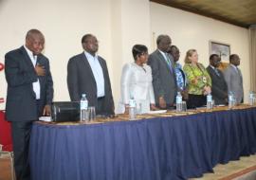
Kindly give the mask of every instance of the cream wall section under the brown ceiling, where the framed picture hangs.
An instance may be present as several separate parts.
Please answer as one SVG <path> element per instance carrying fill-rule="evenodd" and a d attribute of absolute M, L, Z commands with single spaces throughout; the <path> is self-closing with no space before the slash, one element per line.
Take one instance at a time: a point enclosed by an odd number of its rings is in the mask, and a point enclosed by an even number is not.
<path fill-rule="evenodd" d="M 249 91 L 249 41 L 248 29 L 236 27 L 201 15 L 150 3 L 152 36 L 164 33 L 171 36 L 173 45 L 180 51 L 180 63 L 184 64 L 187 50 L 197 49 L 199 62 L 209 64 L 209 41 L 230 45 L 231 54 L 241 58 L 240 68 L 244 77 L 245 95 Z M 155 44 L 155 42 L 153 42 Z M 229 62 L 227 62 L 229 63 Z M 245 99 L 247 101 L 247 98 Z"/>

